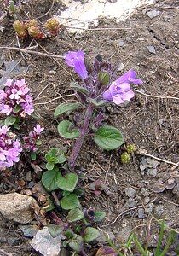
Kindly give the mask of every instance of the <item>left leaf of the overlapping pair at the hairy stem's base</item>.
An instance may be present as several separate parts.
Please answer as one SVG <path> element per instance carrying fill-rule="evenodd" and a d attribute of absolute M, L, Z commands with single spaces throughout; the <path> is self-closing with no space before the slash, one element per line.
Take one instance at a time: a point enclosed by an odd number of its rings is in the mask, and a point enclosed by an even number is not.
<path fill-rule="evenodd" d="M 61 172 L 55 170 L 43 172 L 42 183 L 49 192 L 58 189 L 57 181 L 61 178 Z"/>

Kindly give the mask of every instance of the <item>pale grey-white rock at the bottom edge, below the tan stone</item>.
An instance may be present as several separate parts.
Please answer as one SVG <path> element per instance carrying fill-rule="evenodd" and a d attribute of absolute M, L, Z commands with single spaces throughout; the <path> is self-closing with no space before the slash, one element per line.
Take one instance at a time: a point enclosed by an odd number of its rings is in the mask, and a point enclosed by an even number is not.
<path fill-rule="evenodd" d="M 53 238 L 48 227 L 38 230 L 30 242 L 31 246 L 43 256 L 58 256 L 61 251 L 61 236 Z"/>

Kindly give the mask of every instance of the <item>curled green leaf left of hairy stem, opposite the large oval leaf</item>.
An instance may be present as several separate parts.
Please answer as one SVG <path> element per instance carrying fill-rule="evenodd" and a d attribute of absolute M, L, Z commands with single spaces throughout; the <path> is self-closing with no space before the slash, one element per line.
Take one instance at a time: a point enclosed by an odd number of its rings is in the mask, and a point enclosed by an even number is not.
<path fill-rule="evenodd" d="M 71 126 L 72 126 L 72 123 L 67 120 L 61 121 L 61 123 L 59 123 L 58 132 L 61 135 L 61 137 L 66 137 L 66 138 L 79 137 L 80 132 L 78 131 L 78 129 L 72 129 Z"/>

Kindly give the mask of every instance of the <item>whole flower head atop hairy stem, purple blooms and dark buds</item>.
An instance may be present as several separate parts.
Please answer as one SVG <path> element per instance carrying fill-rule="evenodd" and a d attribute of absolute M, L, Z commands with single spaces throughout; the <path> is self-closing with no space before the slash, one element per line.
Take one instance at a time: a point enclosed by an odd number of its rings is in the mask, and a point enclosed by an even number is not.
<path fill-rule="evenodd" d="M 141 79 L 136 79 L 136 72 L 133 69 L 114 80 L 110 63 L 102 61 L 101 56 L 97 56 L 91 65 L 85 60 L 83 51 L 68 53 L 66 64 L 73 67 L 84 80 L 84 86 L 89 91 L 90 98 L 95 100 L 113 101 L 120 105 L 134 97 L 130 84 L 142 84 Z"/>

